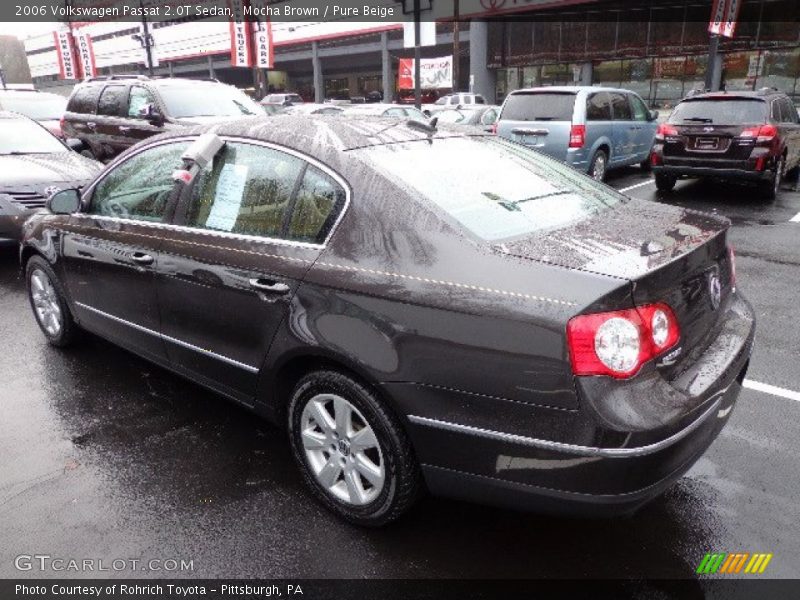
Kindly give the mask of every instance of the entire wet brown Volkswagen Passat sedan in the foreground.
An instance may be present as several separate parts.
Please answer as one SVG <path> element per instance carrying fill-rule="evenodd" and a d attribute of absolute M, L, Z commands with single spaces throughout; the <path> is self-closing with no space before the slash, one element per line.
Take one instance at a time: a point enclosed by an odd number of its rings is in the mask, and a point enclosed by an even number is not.
<path fill-rule="evenodd" d="M 627 513 L 725 424 L 753 312 L 728 222 L 523 146 L 279 116 L 156 137 L 24 230 L 33 312 L 288 428 L 379 525 L 434 494 Z"/>

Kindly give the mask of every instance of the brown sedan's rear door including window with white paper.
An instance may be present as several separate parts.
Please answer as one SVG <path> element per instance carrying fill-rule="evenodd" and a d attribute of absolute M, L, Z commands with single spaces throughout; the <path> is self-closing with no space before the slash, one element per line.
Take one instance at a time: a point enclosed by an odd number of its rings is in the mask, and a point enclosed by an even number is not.
<path fill-rule="evenodd" d="M 163 232 L 157 290 L 172 367 L 251 404 L 272 338 L 345 204 L 296 152 L 228 141 Z"/>

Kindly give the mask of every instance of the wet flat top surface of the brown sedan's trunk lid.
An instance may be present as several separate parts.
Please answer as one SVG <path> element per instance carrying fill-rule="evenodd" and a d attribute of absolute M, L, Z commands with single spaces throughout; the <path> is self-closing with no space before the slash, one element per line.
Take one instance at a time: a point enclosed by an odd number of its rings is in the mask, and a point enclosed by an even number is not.
<path fill-rule="evenodd" d="M 514 256 L 632 280 L 689 254 L 729 225 L 723 217 L 630 199 L 580 223 L 499 248 Z"/>

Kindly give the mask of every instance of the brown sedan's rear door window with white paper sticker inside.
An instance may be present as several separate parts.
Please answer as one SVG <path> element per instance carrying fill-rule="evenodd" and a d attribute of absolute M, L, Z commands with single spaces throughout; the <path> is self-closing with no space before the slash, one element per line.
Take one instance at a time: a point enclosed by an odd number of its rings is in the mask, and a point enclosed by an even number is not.
<path fill-rule="evenodd" d="M 198 175 L 186 216 L 190 227 L 277 238 L 303 161 L 278 150 L 228 143 Z"/>

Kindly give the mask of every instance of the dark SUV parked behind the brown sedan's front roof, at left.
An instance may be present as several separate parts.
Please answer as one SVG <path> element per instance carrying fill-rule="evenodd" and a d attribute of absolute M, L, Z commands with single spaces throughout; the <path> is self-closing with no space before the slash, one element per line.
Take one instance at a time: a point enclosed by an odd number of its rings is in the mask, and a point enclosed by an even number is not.
<path fill-rule="evenodd" d="M 62 128 L 102 160 L 164 131 L 249 116 L 263 117 L 264 111 L 217 81 L 112 75 L 75 87 Z"/>

